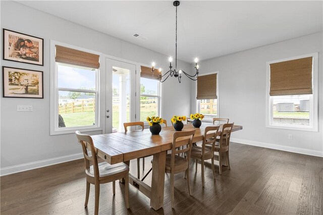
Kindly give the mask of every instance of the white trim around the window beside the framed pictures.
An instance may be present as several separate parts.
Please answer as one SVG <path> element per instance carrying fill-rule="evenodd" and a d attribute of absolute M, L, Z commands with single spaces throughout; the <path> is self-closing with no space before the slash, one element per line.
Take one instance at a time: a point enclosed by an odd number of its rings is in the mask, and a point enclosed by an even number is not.
<path fill-rule="evenodd" d="M 78 126 L 78 127 L 65 127 L 65 128 L 59 128 L 58 127 L 58 106 L 57 106 L 57 102 L 58 102 L 58 91 L 59 91 L 59 87 L 57 87 L 58 84 L 58 74 L 57 74 L 57 69 L 58 69 L 58 64 L 61 63 L 57 63 L 55 61 L 55 46 L 56 45 L 61 45 L 61 46 L 65 46 L 68 48 L 73 48 L 73 49 L 77 49 L 77 50 L 81 50 L 81 51 L 86 51 L 89 53 L 94 53 L 96 55 L 100 56 L 101 59 L 101 53 L 99 52 L 95 52 L 89 49 L 85 49 L 82 47 L 78 47 L 75 45 L 70 45 L 70 44 L 66 44 L 66 43 L 62 43 L 62 42 L 58 42 L 55 40 L 50 40 L 50 117 L 49 117 L 49 123 L 50 123 L 50 135 L 60 135 L 60 134 L 71 134 L 74 133 L 75 131 L 79 130 L 81 132 L 88 132 L 88 131 L 99 131 L 102 130 L 101 126 L 100 126 L 100 119 L 99 119 L 99 115 L 100 115 L 100 100 L 99 100 L 99 92 L 100 92 L 100 84 L 99 84 L 99 74 L 100 74 L 100 67 L 97 69 L 96 72 L 96 92 L 95 92 L 95 122 L 96 124 L 94 126 Z M 61 64 L 61 65 L 66 65 L 66 64 Z M 75 66 L 78 67 L 78 66 Z M 63 88 L 62 88 L 63 89 Z M 68 89 L 68 88 L 64 88 L 64 89 Z M 75 89 L 71 89 L 73 91 L 77 91 Z M 82 90 L 86 91 L 86 90 Z"/>

